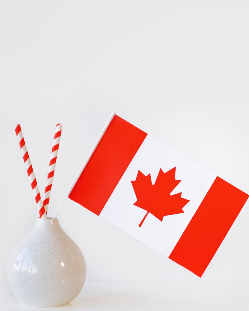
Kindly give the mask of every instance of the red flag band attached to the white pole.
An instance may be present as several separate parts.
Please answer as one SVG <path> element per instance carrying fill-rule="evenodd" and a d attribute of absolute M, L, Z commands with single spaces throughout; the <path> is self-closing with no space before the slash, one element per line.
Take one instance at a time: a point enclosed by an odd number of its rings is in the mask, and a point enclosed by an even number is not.
<path fill-rule="evenodd" d="M 115 115 L 69 198 L 99 215 L 146 136 Z"/>

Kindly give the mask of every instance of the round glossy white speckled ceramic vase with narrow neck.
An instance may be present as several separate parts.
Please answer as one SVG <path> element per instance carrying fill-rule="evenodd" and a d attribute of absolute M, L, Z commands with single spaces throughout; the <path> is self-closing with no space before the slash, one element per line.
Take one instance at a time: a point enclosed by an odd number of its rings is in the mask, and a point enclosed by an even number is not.
<path fill-rule="evenodd" d="M 31 307 L 68 304 L 79 294 L 85 279 L 84 256 L 57 218 L 38 218 L 14 248 L 7 265 L 12 294 Z"/>

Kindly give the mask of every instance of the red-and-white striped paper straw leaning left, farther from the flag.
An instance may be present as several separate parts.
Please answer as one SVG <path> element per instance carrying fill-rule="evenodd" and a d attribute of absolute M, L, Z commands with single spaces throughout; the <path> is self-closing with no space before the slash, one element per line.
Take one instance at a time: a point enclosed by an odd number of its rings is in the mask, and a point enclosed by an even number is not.
<path fill-rule="evenodd" d="M 37 182 L 35 179 L 35 173 L 33 171 L 32 165 L 31 165 L 31 161 L 30 161 L 30 157 L 27 151 L 27 147 L 21 132 L 21 126 L 20 124 L 16 124 L 16 137 L 17 137 L 17 141 L 19 142 L 20 148 L 21 148 L 21 154 L 25 163 L 25 167 L 29 176 L 29 180 L 31 183 L 31 187 L 35 196 L 35 202 L 37 204 L 38 207 L 38 211 L 39 211 L 39 218 L 47 218 L 47 214 L 45 213 L 45 208 L 43 205 L 43 202 L 41 200 L 41 196 L 40 196 L 40 192 L 37 186 Z"/>

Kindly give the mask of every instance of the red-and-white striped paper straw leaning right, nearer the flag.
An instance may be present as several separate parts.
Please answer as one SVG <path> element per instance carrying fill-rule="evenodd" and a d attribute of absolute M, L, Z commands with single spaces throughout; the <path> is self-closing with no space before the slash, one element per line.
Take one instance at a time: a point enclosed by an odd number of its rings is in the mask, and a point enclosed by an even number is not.
<path fill-rule="evenodd" d="M 50 192 L 51 192 L 52 183 L 54 179 L 54 169 L 55 169 L 57 154 L 59 150 L 61 129 L 62 129 L 62 125 L 59 123 L 56 124 L 53 147 L 52 147 L 50 161 L 49 161 L 49 172 L 47 176 L 46 187 L 45 187 L 45 192 L 44 192 L 44 197 L 43 197 L 43 204 L 44 204 L 46 213 L 49 207 L 49 198 L 50 198 Z"/>

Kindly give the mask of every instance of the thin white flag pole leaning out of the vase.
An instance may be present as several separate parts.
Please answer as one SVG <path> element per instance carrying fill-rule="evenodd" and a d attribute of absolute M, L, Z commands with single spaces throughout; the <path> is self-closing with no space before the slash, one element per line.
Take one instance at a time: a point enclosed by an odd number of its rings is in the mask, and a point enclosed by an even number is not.
<path fill-rule="evenodd" d="M 78 175 L 76 176 L 74 182 L 72 183 L 72 185 L 71 185 L 70 188 L 68 189 L 68 192 L 66 193 L 66 195 L 63 197 L 62 201 L 60 202 L 60 204 L 59 204 L 57 210 L 56 210 L 55 213 L 54 213 L 53 218 L 56 218 L 56 217 L 58 216 L 58 214 L 59 214 L 59 212 L 60 212 L 60 210 L 61 210 L 61 208 L 62 208 L 64 202 L 66 201 L 66 199 L 68 198 L 69 194 L 70 194 L 71 191 L 73 190 L 74 185 L 76 184 L 76 182 L 77 182 L 77 180 L 79 179 L 81 173 L 83 172 L 83 169 L 86 167 L 88 161 L 90 160 L 90 158 L 91 158 L 93 152 L 95 151 L 96 147 L 98 146 L 98 143 L 101 141 L 101 138 L 102 138 L 103 135 L 105 134 L 106 129 L 108 128 L 108 126 L 109 126 L 109 124 L 111 123 L 111 120 L 113 119 L 114 116 L 115 116 L 115 112 L 113 111 L 113 112 L 111 113 L 110 117 L 108 118 L 108 120 L 107 120 L 107 122 L 106 122 L 104 128 L 102 129 L 102 131 L 101 131 L 99 137 L 97 138 L 95 144 L 93 145 L 92 150 L 89 152 L 89 154 L 88 154 L 88 156 L 87 156 L 87 158 L 86 158 L 86 160 L 85 160 L 85 162 L 84 162 L 82 168 L 80 169 Z"/>

